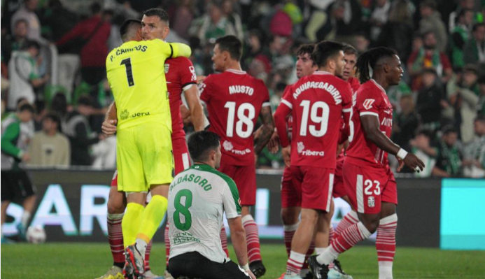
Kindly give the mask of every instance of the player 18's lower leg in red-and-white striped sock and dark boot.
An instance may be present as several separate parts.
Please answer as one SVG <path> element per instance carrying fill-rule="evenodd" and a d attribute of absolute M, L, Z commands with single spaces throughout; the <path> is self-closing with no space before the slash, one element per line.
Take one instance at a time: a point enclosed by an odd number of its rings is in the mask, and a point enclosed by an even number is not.
<path fill-rule="evenodd" d="M 259 278 L 266 273 L 266 268 L 262 264 L 260 238 L 258 234 L 258 225 L 251 215 L 250 206 L 241 206 L 242 224 L 246 231 L 246 243 L 248 246 L 248 262 L 251 272 Z"/>

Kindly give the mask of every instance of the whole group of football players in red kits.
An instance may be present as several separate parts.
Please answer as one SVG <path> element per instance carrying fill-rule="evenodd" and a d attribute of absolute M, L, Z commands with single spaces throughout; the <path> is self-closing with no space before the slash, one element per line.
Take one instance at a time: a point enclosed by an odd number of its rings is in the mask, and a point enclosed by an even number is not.
<path fill-rule="evenodd" d="M 157 36 L 156 19 L 143 20 L 143 37 L 167 36 Z M 148 26 L 155 26 L 155 31 Z M 165 62 L 175 175 L 190 165 L 183 119 L 190 119 L 196 131 L 209 129 L 220 136 L 223 157 L 219 171 L 230 176 L 239 189 L 248 262 L 253 274 L 260 277 L 265 274 L 265 266 L 258 227 L 250 212 L 255 205 L 255 159 L 268 143 L 272 151 L 280 143 L 286 163 L 281 183 L 281 217 L 288 251 L 282 278 L 351 278 L 343 273 L 337 257 L 374 231 L 379 279 L 392 278 L 397 189 L 387 154 L 396 155 L 400 167 L 405 164 L 416 171 L 423 168 L 423 162 L 389 139 L 393 108 L 385 90 L 397 85 L 402 76 L 396 52 L 374 48 L 361 54 L 356 62 L 357 52 L 349 45 L 331 41 L 302 45 L 296 62 L 300 80 L 285 90 L 274 114 L 276 129 L 268 90 L 262 80 L 242 71 L 241 52 L 241 41 L 235 36 L 218 38 L 212 60 L 214 70 L 220 73 L 203 80 L 197 79 L 187 58 Z M 354 64 L 362 85 L 351 76 Z M 199 96 L 209 112 L 208 128 Z M 258 116 L 262 125 L 255 132 Z M 115 127 L 106 120 L 103 130 L 112 135 Z M 125 196 L 116 187 L 117 173 L 111 186 L 108 241 L 114 262 L 111 269 L 117 274 L 125 265 L 121 220 L 126 207 Z M 332 196 L 342 197 L 353 208 L 335 232 L 330 226 Z M 228 254 L 224 228 L 220 238 Z M 149 267 L 150 246 L 151 243 L 146 250 L 145 276 L 155 278 Z M 314 250 L 318 256 L 309 257 Z M 171 278 L 169 271 L 165 278 Z"/>

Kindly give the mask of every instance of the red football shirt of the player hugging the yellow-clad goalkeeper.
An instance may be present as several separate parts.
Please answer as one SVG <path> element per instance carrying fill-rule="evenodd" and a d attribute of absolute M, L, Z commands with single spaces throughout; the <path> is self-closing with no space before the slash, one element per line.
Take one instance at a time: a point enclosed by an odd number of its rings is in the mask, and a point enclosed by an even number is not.
<path fill-rule="evenodd" d="M 187 57 L 177 57 L 165 60 L 165 78 L 169 91 L 172 138 L 185 137 L 183 120 L 180 112 L 183 90 L 197 84 L 194 65 Z"/>

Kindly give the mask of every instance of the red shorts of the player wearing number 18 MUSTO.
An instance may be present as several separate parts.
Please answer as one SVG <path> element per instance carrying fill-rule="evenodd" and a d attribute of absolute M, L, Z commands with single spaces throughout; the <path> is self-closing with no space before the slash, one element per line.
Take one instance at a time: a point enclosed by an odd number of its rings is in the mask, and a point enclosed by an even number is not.
<path fill-rule="evenodd" d="M 256 204 L 256 168 L 254 165 L 234 166 L 220 162 L 218 171 L 225 173 L 236 183 L 241 206 Z"/>

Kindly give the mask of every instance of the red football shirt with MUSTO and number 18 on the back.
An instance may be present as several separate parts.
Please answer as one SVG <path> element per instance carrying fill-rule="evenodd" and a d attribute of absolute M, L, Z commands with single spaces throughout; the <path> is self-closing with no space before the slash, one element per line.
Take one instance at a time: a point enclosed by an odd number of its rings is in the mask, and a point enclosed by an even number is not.
<path fill-rule="evenodd" d="M 199 90 L 209 112 L 209 131 L 220 136 L 222 162 L 253 165 L 256 120 L 262 106 L 270 106 L 265 83 L 231 69 L 207 76 Z"/>

